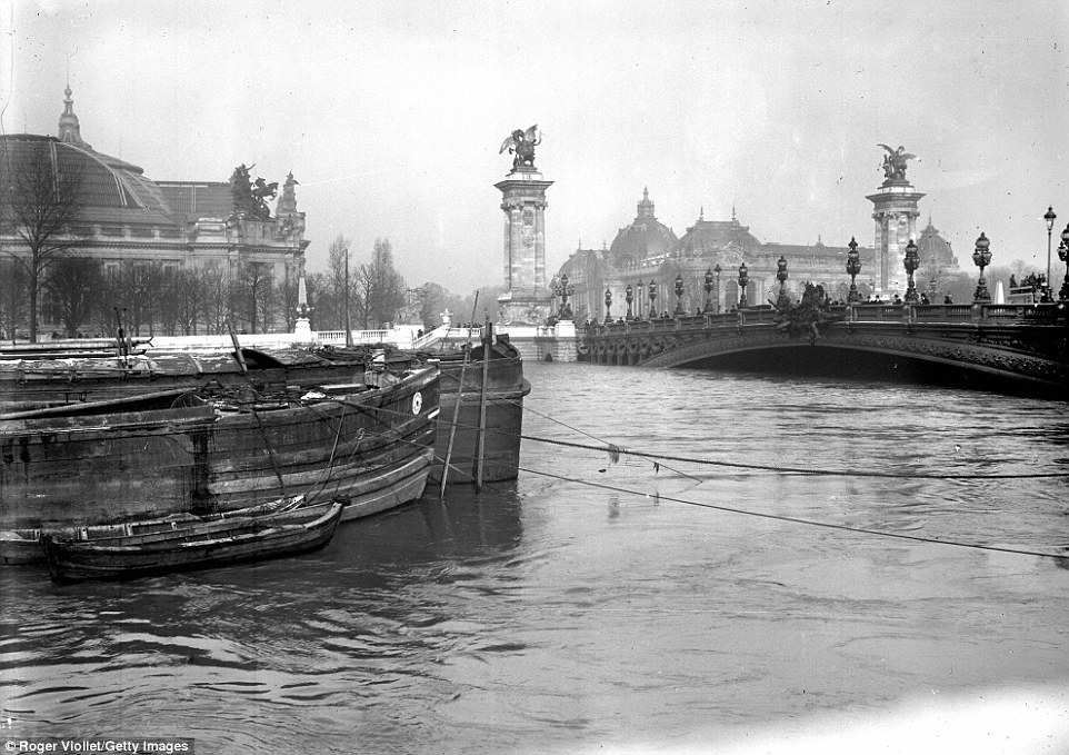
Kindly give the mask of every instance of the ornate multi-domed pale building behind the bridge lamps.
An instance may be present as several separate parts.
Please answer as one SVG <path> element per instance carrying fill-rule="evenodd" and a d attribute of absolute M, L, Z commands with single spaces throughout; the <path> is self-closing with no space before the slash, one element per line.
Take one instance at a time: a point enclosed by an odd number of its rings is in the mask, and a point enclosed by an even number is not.
<path fill-rule="evenodd" d="M 896 196 L 895 201 L 899 199 Z M 708 298 L 712 311 L 730 310 L 739 305 L 741 290 L 738 280 L 742 265 L 747 268 L 747 306 L 768 305 L 779 295 L 777 274 L 780 259 L 787 261 L 785 289 L 789 295 L 799 298 L 808 282 L 823 286 L 833 300 L 847 299 L 850 289 L 847 275 L 850 249 L 847 245 L 827 246 L 819 238 L 805 245 L 762 242 L 749 226 L 742 225 L 735 209 L 729 220 L 709 220 L 705 211 L 699 210 L 693 225 L 677 237 L 672 228 L 658 220 L 655 209 L 649 191 L 643 189 L 635 219 L 619 229 L 611 244 L 602 244 L 601 249 L 583 249 L 580 244 L 558 270 L 552 286 L 559 287 L 567 276 L 571 290 L 569 304 L 577 320 L 605 320 L 607 291 L 608 315 L 615 320 L 627 317 L 629 311 L 632 317 L 645 318 L 651 311 L 659 316 L 665 312 L 673 315 L 677 308 L 682 314 L 695 315 L 706 307 L 706 280 L 710 272 Z M 890 209 L 885 207 L 881 217 L 875 219 L 878 237 L 880 223 L 895 221 L 893 245 L 879 256 L 873 247 L 858 246 L 861 261 L 858 289 L 863 297 L 878 294 L 885 301 L 896 292 L 905 294 L 906 276 L 905 270 L 898 275 L 892 269 L 898 254 L 898 216 L 891 218 Z M 911 211 L 909 208 L 898 209 Z M 907 232 L 909 230 L 908 226 Z M 891 234 L 885 229 L 879 238 L 890 241 Z M 903 248 L 908 240 L 902 241 Z M 950 252 L 949 244 L 930 221 L 916 238 L 916 244 L 920 248 L 922 268 L 933 271 L 957 269 L 957 259 Z M 678 297 L 677 287 L 681 291 Z M 627 301 L 629 289 L 630 307 Z"/>

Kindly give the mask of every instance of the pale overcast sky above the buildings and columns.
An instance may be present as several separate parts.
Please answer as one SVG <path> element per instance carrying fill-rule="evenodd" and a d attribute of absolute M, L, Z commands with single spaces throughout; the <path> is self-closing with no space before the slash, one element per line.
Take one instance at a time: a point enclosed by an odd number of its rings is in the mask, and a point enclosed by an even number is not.
<path fill-rule="evenodd" d="M 1047 265 L 1069 221 L 1069 3 L 0 2 L 2 127 L 82 137 L 156 180 L 300 181 L 309 267 L 389 238 L 409 285 L 503 280 L 509 132 L 537 123 L 547 258 L 611 244 L 649 187 L 682 236 L 872 245 L 885 142 L 962 265 Z M 1057 230 L 1056 229 L 1056 230 Z M 1056 236 L 1057 246 L 1057 236 Z M 1052 269 L 1065 268 L 1053 256 Z"/>

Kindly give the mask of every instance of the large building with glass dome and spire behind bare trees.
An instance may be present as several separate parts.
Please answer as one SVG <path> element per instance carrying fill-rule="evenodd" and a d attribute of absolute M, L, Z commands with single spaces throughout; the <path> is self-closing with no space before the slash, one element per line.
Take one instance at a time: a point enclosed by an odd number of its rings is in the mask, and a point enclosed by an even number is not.
<path fill-rule="evenodd" d="M 56 187 L 64 181 L 77 186 L 77 210 L 53 229 L 52 261 L 99 260 L 110 276 L 128 267 L 151 267 L 164 275 L 196 268 L 227 285 L 256 264 L 273 284 L 296 285 L 309 241 L 292 173 L 273 217 L 263 200 L 276 195 L 278 183 L 259 179 L 253 187 L 248 171 L 241 172 L 243 166 L 230 181 L 154 181 L 141 167 L 98 152 L 82 138 L 69 87 L 63 103 L 57 137 L 0 137 L 0 212 L 8 221 L 0 228 L 0 245 L 8 255 L 23 261 L 33 256 L 26 222 L 17 216 L 29 209 L 27 193 L 37 173 L 39 185 L 40 177 L 48 176 Z M 54 191 L 51 182 L 46 188 Z M 12 321 L 11 312 L 0 318 L 7 330 L 24 327 Z"/>

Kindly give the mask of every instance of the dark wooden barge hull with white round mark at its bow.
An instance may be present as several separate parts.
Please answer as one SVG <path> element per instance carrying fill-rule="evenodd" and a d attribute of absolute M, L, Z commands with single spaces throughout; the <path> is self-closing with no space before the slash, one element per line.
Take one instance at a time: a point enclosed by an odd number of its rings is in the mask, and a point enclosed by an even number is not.
<path fill-rule="evenodd" d="M 194 515 L 292 494 L 348 499 L 347 519 L 418 498 L 433 460 L 439 376 L 299 406 L 182 406 L 0 420 L 0 530 Z M 0 537 L 0 558 L 22 544 Z"/>

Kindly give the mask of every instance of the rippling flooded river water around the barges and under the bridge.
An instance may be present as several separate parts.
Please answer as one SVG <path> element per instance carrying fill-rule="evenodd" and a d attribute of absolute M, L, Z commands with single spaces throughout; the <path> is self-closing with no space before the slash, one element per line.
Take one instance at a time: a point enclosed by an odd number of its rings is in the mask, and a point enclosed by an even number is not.
<path fill-rule="evenodd" d="M 1069 553 L 1069 477 L 1032 476 L 1069 474 L 1065 404 L 526 367 L 514 484 L 429 494 L 293 559 L 79 586 L 0 570 L 0 734 L 1069 752 L 1069 562 L 1029 555 Z"/>

